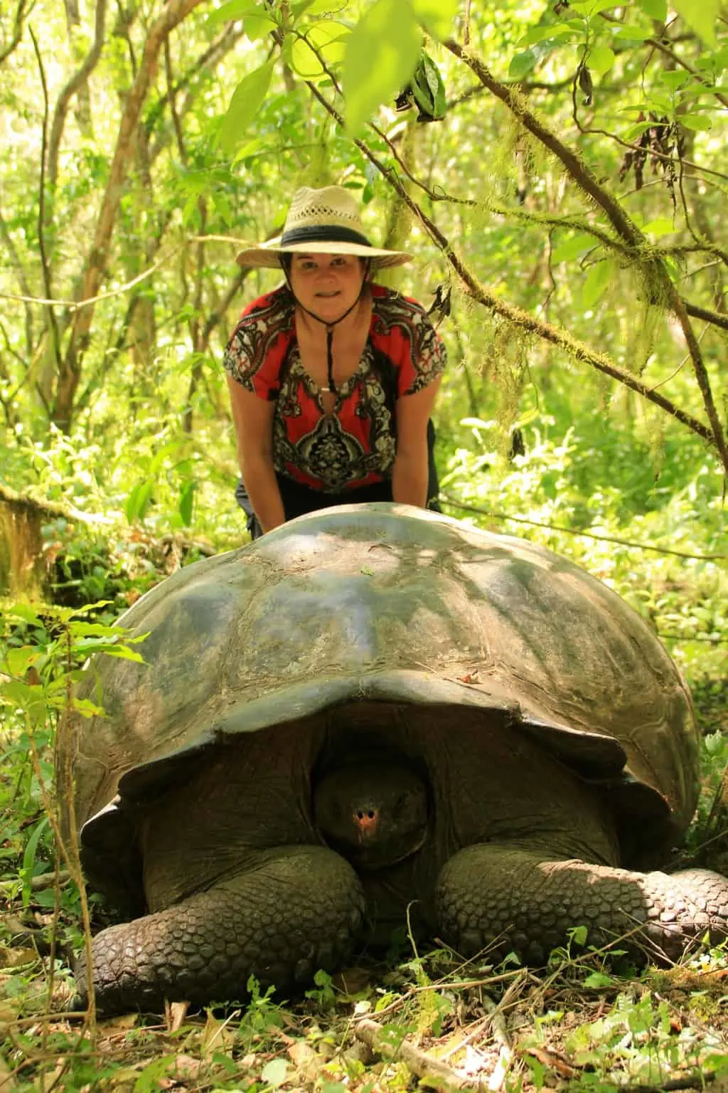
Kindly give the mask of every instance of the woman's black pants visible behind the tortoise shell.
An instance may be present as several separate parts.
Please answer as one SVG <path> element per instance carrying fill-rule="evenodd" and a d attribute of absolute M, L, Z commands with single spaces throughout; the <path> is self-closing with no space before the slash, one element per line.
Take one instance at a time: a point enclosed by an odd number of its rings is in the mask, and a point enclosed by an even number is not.
<path fill-rule="evenodd" d="M 431 421 L 427 423 L 427 507 L 439 513 L 438 494 L 440 483 L 438 481 L 438 469 L 434 465 L 434 425 Z M 320 508 L 332 508 L 334 505 L 360 505 L 372 501 L 392 501 L 392 482 L 373 482 L 371 485 L 358 486 L 354 490 L 344 490 L 342 493 L 323 493 L 321 490 L 312 490 L 300 482 L 294 482 L 286 474 L 276 471 L 276 480 L 281 491 L 283 510 L 286 520 L 293 520 L 296 516 L 303 516 L 305 513 L 315 513 Z M 235 487 L 235 500 L 240 505 L 248 517 L 248 531 L 251 539 L 260 539 L 263 529 L 250 503 L 248 491 L 242 479 Z"/>

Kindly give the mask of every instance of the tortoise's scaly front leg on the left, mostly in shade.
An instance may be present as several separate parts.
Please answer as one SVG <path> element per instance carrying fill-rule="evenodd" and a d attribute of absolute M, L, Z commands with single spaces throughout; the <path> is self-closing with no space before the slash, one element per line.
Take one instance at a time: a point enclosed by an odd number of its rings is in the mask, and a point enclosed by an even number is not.
<path fill-rule="evenodd" d="M 346 959 L 362 913 L 359 880 L 337 854 L 314 846 L 263 851 L 244 872 L 97 935 L 97 1006 L 159 1012 L 165 999 L 240 1000 L 251 975 L 263 985 L 306 982 Z M 83 959 L 76 983 L 83 1001 Z"/>

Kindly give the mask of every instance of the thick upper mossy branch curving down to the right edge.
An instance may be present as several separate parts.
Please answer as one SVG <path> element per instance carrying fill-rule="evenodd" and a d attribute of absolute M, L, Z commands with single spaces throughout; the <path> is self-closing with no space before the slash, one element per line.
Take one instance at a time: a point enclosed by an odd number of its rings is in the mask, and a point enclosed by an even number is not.
<path fill-rule="evenodd" d="M 584 161 L 576 155 L 575 152 L 566 148 L 566 145 L 559 140 L 556 133 L 552 132 L 544 121 L 537 118 L 536 115 L 527 108 L 525 101 L 517 94 L 517 92 L 496 80 L 482 61 L 470 50 L 463 48 L 460 43 L 449 38 L 447 42 L 445 42 L 445 47 L 454 54 L 455 57 L 458 57 L 462 61 L 464 61 L 477 75 L 484 86 L 488 87 L 488 90 L 497 98 L 508 106 L 520 124 L 527 129 L 528 132 L 544 145 L 544 148 L 548 149 L 549 152 L 551 152 L 561 162 L 571 179 L 606 214 L 617 234 L 621 236 L 621 238 L 630 246 L 644 251 L 645 263 L 649 262 L 652 266 L 652 271 L 658 279 L 659 286 L 665 293 L 667 304 L 677 316 L 682 328 L 688 350 L 690 352 L 693 371 L 695 373 L 695 379 L 697 380 L 697 386 L 703 397 L 705 412 L 707 414 L 708 422 L 711 423 L 711 431 L 713 434 L 711 439 L 717 448 L 724 470 L 726 471 L 726 474 L 728 474 L 728 445 L 726 444 L 726 436 L 713 399 L 711 383 L 705 369 L 703 355 L 701 353 L 695 332 L 688 317 L 685 305 L 672 283 L 665 263 L 657 258 L 654 249 L 649 248 L 647 239 L 643 236 L 636 224 L 634 224 L 630 216 L 628 216 L 619 202 L 612 197 L 611 193 L 599 185 L 597 178 L 593 175 Z"/>

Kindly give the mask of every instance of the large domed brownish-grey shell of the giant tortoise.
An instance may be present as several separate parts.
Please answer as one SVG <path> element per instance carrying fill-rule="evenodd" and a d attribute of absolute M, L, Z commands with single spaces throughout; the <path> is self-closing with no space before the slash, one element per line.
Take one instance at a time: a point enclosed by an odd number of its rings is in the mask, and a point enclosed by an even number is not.
<path fill-rule="evenodd" d="M 179 571 L 119 623 L 148 635 L 145 662 L 98 658 L 106 716 L 71 726 L 96 874 L 126 837 L 108 822 L 119 800 L 158 792 L 220 740 L 346 703 L 439 705 L 443 731 L 457 707 L 502 712 L 607 794 L 625 865 L 695 807 L 692 705 L 659 640 L 521 539 L 409 506 L 324 509 Z"/>

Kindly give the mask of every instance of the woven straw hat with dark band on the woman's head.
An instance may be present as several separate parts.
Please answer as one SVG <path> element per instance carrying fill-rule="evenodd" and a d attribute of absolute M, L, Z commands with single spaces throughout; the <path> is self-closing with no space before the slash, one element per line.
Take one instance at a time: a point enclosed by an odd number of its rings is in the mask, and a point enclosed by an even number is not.
<path fill-rule="evenodd" d="M 369 258 L 380 269 L 403 266 L 411 259 L 404 250 L 372 247 L 363 234 L 356 199 L 343 186 L 324 186 L 321 190 L 301 187 L 294 195 L 283 235 L 241 250 L 236 260 L 239 266 L 277 269 L 282 254 L 357 255 Z"/>

